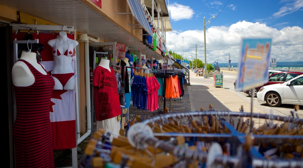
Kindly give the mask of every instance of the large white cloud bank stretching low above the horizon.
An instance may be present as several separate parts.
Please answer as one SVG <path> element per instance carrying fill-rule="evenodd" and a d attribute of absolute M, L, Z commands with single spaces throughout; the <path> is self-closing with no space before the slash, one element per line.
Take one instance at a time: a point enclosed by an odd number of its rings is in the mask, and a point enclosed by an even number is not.
<path fill-rule="evenodd" d="M 293 26 L 277 30 L 259 22 L 239 21 L 229 27 L 211 26 L 206 30 L 207 62 L 213 63 L 218 60 L 219 63 L 228 63 L 228 54 L 230 54 L 231 63 L 237 63 L 241 38 L 244 37 L 272 38 L 272 58 L 277 58 L 277 61 L 302 61 L 303 29 L 301 27 Z M 203 29 L 166 32 L 166 41 L 168 50 L 176 51 L 178 54 L 184 53 L 183 57 L 189 60 L 191 55 L 193 58 L 196 57 L 196 45 L 203 44 L 197 48 L 197 58 L 204 62 Z"/>

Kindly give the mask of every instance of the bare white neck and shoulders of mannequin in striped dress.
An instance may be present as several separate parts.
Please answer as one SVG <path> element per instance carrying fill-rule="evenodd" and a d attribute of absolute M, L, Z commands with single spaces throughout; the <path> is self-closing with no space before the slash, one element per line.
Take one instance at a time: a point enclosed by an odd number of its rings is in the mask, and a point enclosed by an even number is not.
<path fill-rule="evenodd" d="M 43 65 L 37 62 L 35 52 L 22 51 L 20 59 L 32 64 L 32 66 L 43 75 L 47 74 L 43 69 Z M 15 86 L 30 86 L 35 82 L 35 77 L 24 62 L 17 61 L 12 67 L 12 82 Z"/>

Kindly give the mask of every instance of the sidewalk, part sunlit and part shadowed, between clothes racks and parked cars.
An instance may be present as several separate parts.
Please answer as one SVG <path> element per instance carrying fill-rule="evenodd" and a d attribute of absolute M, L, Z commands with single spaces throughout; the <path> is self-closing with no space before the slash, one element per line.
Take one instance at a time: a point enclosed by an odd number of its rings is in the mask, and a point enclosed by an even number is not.
<path fill-rule="evenodd" d="M 224 75 L 228 73 L 237 73 L 234 71 L 223 71 Z M 194 72 L 190 71 L 189 79 L 200 78 L 200 82 L 191 82 L 191 86 L 188 86 L 188 91 L 191 96 L 193 108 L 192 110 L 199 110 L 198 105 L 202 105 L 205 110 L 208 110 L 209 104 L 215 107 L 215 110 L 230 110 L 234 112 L 240 111 L 241 105 L 243 106 L 244 112 L 251 112 L 251 98 L 243 96 L 241 93 L 235 91 L 233 84 L 227 85 L 224 83 L 223 87 L 215 87 L 213 76 L 208 76 L 204 78 L 203 76 L 196 76 Z M 200 86 L 200 87 L 199 87 Z M 199 89 L 197 89 L 199 88 Z M 209 92 L 209 94 L 204 93 L 203 90 Z M 215 99 L 217 101 L 215 101 Z M 253 105 L 257 104 L 257 100 L 253 100 Z M 259 104 L 259 103 L 258 103 Z M 222 105 L 227 109 L 222 108 Z M 264 110 L 259 107 L 253 106 L 253 113 L 264 114 Z"/>

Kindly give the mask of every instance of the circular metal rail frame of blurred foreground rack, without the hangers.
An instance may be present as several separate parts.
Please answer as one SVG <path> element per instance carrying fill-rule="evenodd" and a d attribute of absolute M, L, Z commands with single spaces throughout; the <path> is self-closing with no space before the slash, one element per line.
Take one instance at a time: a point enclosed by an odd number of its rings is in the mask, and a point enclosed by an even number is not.
<path fill-rule="evenodd" d="M 292 112 L 292 111 L 291 111 Z M 153 145 L 155 148 L 160 148 L 166 152 L 172 152 L 175 156 L 184 158 L 184 159 L 192 159 L 199 160 L 201 162 L 207 162 L 208 157 L 211 157 L 213 162 L 211 164 L 222 164 L 229 165 L 232 167 L 246 167 L 251 165 L 252 167 L 302 167 L 303 160 L 302 159 L 286 159 L 286 158 L 266 158 L 261 155 L 255 148 L 251 146 L 249 150 L 245 150 L 242 148 L 241 144 L 238 144 L 238 150 L 236 155 L 234 156 L 226 156 L 223 154 L 218 154 L 217 152 L 209 153 L 201 152 L 201 151 L 193 151 L 185 148 L 184 146 L 176 146 L 175 144 L 176 138 L 170 138 L 169 141 L 160 140 L 154 136 L 164 136 L 164 137 L 203 137 L 203 138 L 235 138 L 232 139 L 233 143 L 242 143 L 245 144 L 245 135 L 243 133 L 237 132 L 233 126 L 231 126 L 228 121 L 225 121 L 223 118 L 221 120 L 221 124 L 224 124 L 228 127 L 230 134 L 202 134 L 202 133 L 152 133 L 153 130 L 148 124 L 154 125 L 155 122 L 158 123 L 166 123 L 168 119 L 176 119 L 176 118 L 191 118 L 194 116 L 216 116 L 216 117 L 247 117 L 249 118 L 252 115 L 254 118 L 262 118 L 268 120 L 277 120 L 292 123 L 292 124 L 303 124 L 303 119 L 298 117 L 288 117 L 288 116 L 278 116 L 271 114 L 251 114 L 240 112 L 232 112 L 232 111 L 189 111 L 189 112 L 175 112 L 175 113 L 166 113 L 158 116 L 154 116 L 152 118 L 143 120 L 141 123 L 135 123 L 128 130 L 128 140 L 135 142 L 136 144 L 133 147 L 136 148 L 144 148 L 145 144 Z M 302 128 L 303 129 L 303 128 Z M 150 132 L 151 131 L 151 132 Z M 250 134 L 251 135 L 251 134 Z M 252 135 L 255 138 L 255 142 L 259 139 L 268 139 L 268 140 L 277 140 L 280 143 L 284 142 L 287 139 L 303 139 L 302 135 Z M 238 141 L 234 141 L 238 139 Z M 215 141 L 213 141 L 215 142 Z M 251 160 L 251 161 L 249 161 Z M 207 165 L 211 166 L 211 165 Z"/>

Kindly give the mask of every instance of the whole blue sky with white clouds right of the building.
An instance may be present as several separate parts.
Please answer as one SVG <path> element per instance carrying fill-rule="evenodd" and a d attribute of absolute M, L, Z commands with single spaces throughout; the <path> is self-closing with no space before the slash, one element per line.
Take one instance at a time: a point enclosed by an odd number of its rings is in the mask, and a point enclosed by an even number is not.
<path fill-rule="evenodd" d="M 207 63 L 237 63 L 242 38 L 272 38 L 271 58 L 303 61 L 303 0 L 168 0 L 171 32 L 168 50 Z M 183 38 L 182 38 L 183 37 Z"/>

